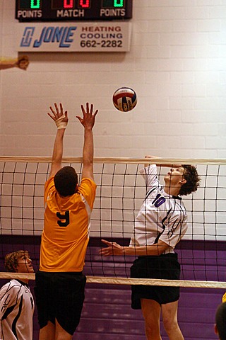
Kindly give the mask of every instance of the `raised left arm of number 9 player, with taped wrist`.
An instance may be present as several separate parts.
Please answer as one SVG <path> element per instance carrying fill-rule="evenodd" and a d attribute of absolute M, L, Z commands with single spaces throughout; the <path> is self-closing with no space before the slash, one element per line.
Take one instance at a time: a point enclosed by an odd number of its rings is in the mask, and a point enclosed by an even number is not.
<path fill-rule="evenodd" d="M 60 103 L 59 107 L 54 103 L 55 109 L 49 106 L 52 113 L 48 113 L 49 117 L 54 120 L 57 125 L 57 135 L 54 141 L 54 150 L 52 154 L 52 165 L 50 169 L 49 177 L 57 174 L 57 171 L 61 169 L 61 162 L 63 157 L 63 140 L 64 132 L 66 130 L 66 125 L 69 121 L 67 111 L 64 112 L 63 106 Z"/>

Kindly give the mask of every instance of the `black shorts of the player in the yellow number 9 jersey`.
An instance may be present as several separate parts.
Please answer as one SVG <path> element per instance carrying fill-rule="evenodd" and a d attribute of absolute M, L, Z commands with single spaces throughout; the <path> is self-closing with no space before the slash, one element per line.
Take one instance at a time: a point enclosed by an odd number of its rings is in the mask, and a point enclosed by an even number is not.
<path fill-rule="evenodd" d="M 83 273 L 46 273 L 35 275 L 35 298 L 40 328 L 55 319 L 69 334 L 76 331 L 85 298 Z"/>

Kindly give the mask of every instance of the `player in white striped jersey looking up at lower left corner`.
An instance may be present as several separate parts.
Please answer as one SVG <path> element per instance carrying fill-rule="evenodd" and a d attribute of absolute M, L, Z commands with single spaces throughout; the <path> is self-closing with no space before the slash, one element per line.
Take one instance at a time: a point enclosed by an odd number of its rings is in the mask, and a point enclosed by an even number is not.
<path fill-rule="evenodd" d="M 28 251 L 13 251 L 5 256 L 6 271 L 34 273 Z M 35 305 L 28 279 L 12 279 L 0 290 L 0 340 L 32 340 Z"/>

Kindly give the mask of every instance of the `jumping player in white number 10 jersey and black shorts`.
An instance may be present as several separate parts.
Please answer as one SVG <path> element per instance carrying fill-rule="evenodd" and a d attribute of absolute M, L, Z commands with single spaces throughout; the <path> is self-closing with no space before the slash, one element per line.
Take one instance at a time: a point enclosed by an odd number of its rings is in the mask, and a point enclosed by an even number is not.
<path fill-rule="evenodd" d="M 152 158 L 147 156 L 145 158 Z M 179 280 L 180 265 L 174 247 L 187 230 L 186 209 L 182 195 L 197 190 L 199 176 L 191 165 L 167 165 L 171 169 L 164 177 L 165 186 L 157 178 L 157 166 L 146 165 L 141 175 L 145 179 L 146 196 L 138 212 L 129 246 L 102 242 L 102 255 L 138 256 L 131 266 L 131 278 Z M 160 313 L 170 340 L 183 340 L 177 322 L 179 287 L 132 285 L 131 307 L 141 309 L 148 340 L 160 340 Z"/>

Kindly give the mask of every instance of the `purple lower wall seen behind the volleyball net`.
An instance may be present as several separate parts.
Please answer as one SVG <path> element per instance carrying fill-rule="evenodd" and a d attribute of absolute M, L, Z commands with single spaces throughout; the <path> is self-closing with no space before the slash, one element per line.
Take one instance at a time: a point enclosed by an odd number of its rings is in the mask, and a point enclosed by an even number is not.
<path fill-rule="evenodd" d="M 124 244 L 128 244 L 125 240 Z M 35 270 L 38 268 L 40 237 L 4 236 L 0 240 L 0 270 L 4 271 L 4 255 L 9 251 L 27 249 Z M 100 239 L 91 239 L 88 248 L 85 273 L 88 276 L 129 276 L 132 256 L 107 257 L 104 262 L 98 255 Z M 184 280 L 225 279 L 226 251 L 223 242 L 180 242 L 177 253 L 182 263 Z M 91 261 L 90 261 L 91 260 Z M 1 285 L 4 280 L 1 280 Z M 30 282 L 33 290 L 34 282 Z M 215 310 L 221 302 L 222 289 L 181 288 L 179 300 L 179 325 L 186 340 L 218 339 L 214 334 Z M 141 311 L 131 310 L 130 287 L 88 283 L 85 303 L 73 339 L 76 340 L 145 340 Z M 162 324 L 161 324 L 162 327 Z M 38 339 L 37 311 L 34 317 L 34 338 Z M 162 340 L 168 339 L 162 330 Z"/>

